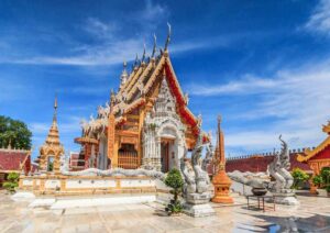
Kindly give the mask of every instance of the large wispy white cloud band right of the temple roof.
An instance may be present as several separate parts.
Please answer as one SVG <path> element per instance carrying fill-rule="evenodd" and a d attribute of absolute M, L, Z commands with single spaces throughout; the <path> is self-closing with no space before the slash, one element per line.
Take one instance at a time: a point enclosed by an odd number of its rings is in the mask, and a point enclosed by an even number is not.
<path fill-rule="evenodd" d="M 223 85 L 193 85 L 190 90 L 201 97 L 244 98 L 241 103 L 244 104 L 243 111 L 241 104 L 231 99 L 235 107 L 228 118 L 242 125 L 239 131 L 230 131 L 226 135 L 226 144 L 231 148 L 270 151 L 279 145 L 279 134 L 289 141 L 293 148 L 315 146 L 326 137 L 321 124 L 330 119 L 329 67 L 329 62 L 310 64 L 295 70 L 278 71 L 271 78 L 250 75 Z M 265 118 L 275 120 L 251 130 L 253 121 Z M 242 121 L 246 122 L 246 127 Z"/>

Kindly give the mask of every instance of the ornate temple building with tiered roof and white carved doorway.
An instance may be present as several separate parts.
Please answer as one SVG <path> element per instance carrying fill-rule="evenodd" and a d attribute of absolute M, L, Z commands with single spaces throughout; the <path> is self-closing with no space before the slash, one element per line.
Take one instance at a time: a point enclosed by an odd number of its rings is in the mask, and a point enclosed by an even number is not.
<path fill-rule="evenodd" d="M 164 51 L 135 59 L 132 73 L 124 63 L 118 92 L 98 108 L 97 118 L 82 121 L 85 168 L 156 168 L 166 173 L 179 167 L 185 149 L 193 149 L 200 119 L 188 109 L 169 54 L 169 34 Z"/>

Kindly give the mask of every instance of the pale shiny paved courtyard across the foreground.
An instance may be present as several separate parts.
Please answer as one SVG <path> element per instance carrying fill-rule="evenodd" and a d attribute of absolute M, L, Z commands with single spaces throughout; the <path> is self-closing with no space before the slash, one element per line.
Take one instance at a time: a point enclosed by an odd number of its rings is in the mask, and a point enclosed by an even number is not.
<path fill-rule="evenodd" d="M 48 210 L 29 208 L 0 193 L 0 232 L 330 232 L 330 199 L 298 196 L 300 207 L 248 210 L 243 197 L 232 207 L 213 206 L 217 215 L 167 217 L 163 207 L 121 204 Z"/>

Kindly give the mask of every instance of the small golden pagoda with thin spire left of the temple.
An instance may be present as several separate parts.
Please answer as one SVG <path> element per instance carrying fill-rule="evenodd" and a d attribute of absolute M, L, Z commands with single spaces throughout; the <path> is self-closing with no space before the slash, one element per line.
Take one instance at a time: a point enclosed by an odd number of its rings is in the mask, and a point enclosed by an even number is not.
<path fill-rule="evenodd" d="M 40 147 L 40 170 L 43 173 L 59 174 L 62 155 L 64 155 L 64 147 L 59 142 L 59 132 L 57 127 L 57 98 L 55 97 L 53 123 L 45 143 Z"/>

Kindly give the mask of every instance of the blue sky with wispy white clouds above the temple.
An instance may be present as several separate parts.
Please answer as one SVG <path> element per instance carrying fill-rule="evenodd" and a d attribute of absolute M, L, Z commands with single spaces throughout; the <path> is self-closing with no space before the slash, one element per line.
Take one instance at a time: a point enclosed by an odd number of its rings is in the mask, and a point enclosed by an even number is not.
<path fill-rule="evenodd" d="M 0 1 L 0 114 L 23 120 L 35 149 L 58 96 L 61 140 L 117 89 L 122 60 L 169 54 L 204 130 L 222 114 L 229 156 L 315 146 L 330 119 L 330 0 Z M 35 154 L 35 153 L 34 153 Z"/>

